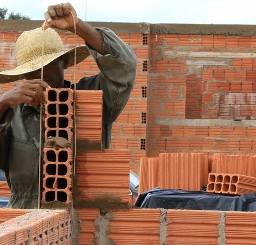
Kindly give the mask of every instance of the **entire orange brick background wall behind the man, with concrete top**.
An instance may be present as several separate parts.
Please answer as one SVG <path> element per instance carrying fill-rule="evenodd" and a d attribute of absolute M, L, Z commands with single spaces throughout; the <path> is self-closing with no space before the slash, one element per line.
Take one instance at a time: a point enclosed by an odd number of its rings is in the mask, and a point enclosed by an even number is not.
<path fill-rule="evenodd" d="M 0 70 L 15 67 L 14 42 L 25 30 L 5 23 L 0 23 Z M 111 143 L 112 149 L 131 150 L 132 170 L 139 172 L 141 157 L 160 152 L 256 152 L 254 26 L 92 24 L 113 29 L 138 57 L 136 85 L 114 123 Z M 74 46 L 73 34 L 59 34 L 66 48 Z M 88 57 L 77 65 L 76 80 L 98 71 Z M 73 73 L 69 68 L 65 78 L 74 82 Z"/>

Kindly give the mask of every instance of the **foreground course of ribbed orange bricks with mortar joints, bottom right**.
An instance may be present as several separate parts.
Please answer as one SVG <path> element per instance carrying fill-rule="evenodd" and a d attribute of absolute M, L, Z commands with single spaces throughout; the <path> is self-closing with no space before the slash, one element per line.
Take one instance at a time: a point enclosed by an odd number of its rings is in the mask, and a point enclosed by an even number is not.
<path fill-rule="evenodd" d="M 247 245 L 256 239 L 254 212 L 78 209 L 77 215 L 81 245 Z"/>

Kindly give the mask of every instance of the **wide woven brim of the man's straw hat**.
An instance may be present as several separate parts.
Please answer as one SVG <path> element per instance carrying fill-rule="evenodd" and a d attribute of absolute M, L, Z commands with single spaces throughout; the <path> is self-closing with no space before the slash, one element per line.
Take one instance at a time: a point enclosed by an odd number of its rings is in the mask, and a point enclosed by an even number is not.
<path fill-rule="evenodd" d="M 53 60 L 57 59 L 61 55 L 67 54 L 69 56 L 69 66 L 74 65 L 75 61 L 75 48 L 69 51 L 51 53 L 44 55 L 44 66 L 51 63 Z M 85 45 L 76 47 L 76 64 L 80 63 L 90 55 L 87 47 Z M 5 70 L 0 72 L 0 83 L 10 83 L 18 80 L 24 79 L 24 74 L 40 69 L 42 67 L 42 57 L 37 57 L 29 62 L 17 66 L 11 70 Z"/>

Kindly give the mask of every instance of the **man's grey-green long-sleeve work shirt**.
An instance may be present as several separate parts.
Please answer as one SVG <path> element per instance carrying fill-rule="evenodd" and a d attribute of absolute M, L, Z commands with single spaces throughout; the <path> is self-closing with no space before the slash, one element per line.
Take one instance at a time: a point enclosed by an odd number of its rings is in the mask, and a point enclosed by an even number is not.
<path fill-rule="evenodd" d="M 114 32 L 98 30 L 108 54 L 102 56 L 89 47 L 100 73 L 82 78 L 76 89 L 103 90 L 102 144 L 109 148 L 112 123 L 129 100 L 135 84 L 137 58 Z M 72 87 L 68 81 L 63 86 Z M 37 208 L 39 122 L 39 110 L 22 104 L 9 108 L 0 124 L 0 168 L 5 171 L 11 189 L 10 208 Z"/>

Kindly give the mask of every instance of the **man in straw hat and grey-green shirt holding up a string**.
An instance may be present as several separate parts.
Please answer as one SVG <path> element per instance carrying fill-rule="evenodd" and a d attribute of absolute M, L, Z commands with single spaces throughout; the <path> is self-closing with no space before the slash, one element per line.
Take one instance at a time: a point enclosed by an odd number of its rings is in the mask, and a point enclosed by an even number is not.
<path fill-rule="evenodd" d="M 75 63 L 74 48 L 65 51 L 59 35 L 49 27 L 74 33 L 75 22 L 77 35 L 87 43 L 87 47 L 76 48 L 76 63 L 91 54 L 100 69 L 99 75 L 82 78 L 76 89 L 103 90 L 104 148 L 110 146 L 112 123 L 124 108 L 135 83 L 136 56 L 111 30 L 92 28 L 77 18 L 69 3 L 49 6 L 45 19 L 45 31 L 42 28 L 27 31 L 17 39 L 17 67 L 0 72 L 0 83 L 22 80 L 0 96 L 0 168 L 5 171 L 11 189 L 10 208 L 37 208 L 39 104 L 44 100 L 43 90 L 49 86 L 72 87 L 63 79 L 63 71 Z M 44 81 L 41 80 L 42 62 Z"/>

